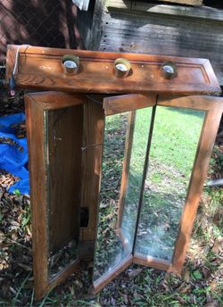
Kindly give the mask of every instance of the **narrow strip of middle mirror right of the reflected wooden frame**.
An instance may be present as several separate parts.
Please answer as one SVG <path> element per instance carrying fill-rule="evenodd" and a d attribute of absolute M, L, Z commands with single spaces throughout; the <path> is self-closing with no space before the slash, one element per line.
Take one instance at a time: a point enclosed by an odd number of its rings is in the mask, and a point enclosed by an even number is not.
<path fill-rule="evenodd" d="M 151 126 L 152 108 L 136 110 L 133 129 L 129 135 L 128 148 L 126 147 L 127 172 L 123 183 L 123 198 L 120 198 L 120 235 L 123 244 L 132 253 L 136 220 L 139 209 L 143 174 L 145 168 L 145 156 Z M 129 157 L 128 157 L 129 154 Z"/>

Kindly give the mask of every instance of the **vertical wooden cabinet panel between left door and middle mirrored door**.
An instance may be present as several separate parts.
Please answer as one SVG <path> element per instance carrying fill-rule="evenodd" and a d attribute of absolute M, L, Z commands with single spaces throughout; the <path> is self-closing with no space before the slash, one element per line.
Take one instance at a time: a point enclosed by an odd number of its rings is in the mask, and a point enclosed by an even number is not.
<path fill-rule="evenodd" d="M 100 101 L 102 104 L 100 104 Z M 98 102 L 98 103 L 97 103 Z M 87 228 L 80 229 L 81 253 L 85 258 L 93 259 L 92 246 L 95 243 L 97 228 L 97 207 L 103 153 L 103 96 L 87 97 L 84 106 L 84 132 L 82 145 L 82 188 L 81 206 L 89 210 Z M 93 245 L 92 245 L 93 243 Z M 87 249 L 86 245 L 89 245 Z M 87 251 L 88 250 L 88 251 Z"/>

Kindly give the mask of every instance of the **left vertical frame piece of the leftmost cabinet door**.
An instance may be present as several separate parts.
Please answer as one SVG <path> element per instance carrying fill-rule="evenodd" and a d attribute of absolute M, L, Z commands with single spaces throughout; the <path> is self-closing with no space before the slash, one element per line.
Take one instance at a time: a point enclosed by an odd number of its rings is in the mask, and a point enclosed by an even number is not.
<path fill-rule="evenodd" d="M 29 96 L 25 97 L 29 149 L 29 182 L 31 195 L 32 250 L 35 295 L 45 295 L 47 288 L 47 212 L 44 152 L 44 115 Z"/>

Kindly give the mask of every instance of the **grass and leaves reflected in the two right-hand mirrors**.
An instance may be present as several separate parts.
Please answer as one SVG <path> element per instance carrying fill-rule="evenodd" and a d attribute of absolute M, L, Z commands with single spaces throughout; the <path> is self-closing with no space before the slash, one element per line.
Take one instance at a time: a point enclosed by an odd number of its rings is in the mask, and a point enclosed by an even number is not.
<path fill-rule="evenodd" d="M 133 244 L 136 228 L 151 112 L 152 108 L 136 111 L 121 226 L 129 245 Z M 202 112 L 157 107 L 143 207 L 137 229 L 138 253 L 171 259 L 202 121 Z M 115 231 L 126 129 L 126 113 L 106 118 L 94 279 L 111 270 L 127 253 Z"/>

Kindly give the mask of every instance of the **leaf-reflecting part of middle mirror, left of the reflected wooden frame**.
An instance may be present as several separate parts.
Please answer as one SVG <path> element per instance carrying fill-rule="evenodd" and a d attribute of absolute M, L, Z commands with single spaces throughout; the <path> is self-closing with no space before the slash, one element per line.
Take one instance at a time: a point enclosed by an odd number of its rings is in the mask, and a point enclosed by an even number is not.
<path fill-rule="evenodd" d="M 95 246 L 94 282 L 109 274 L 129 252 L 117 232 L 121 172 L 131 112 L 107 116 L 104 125 L 103 168 Z"/>

